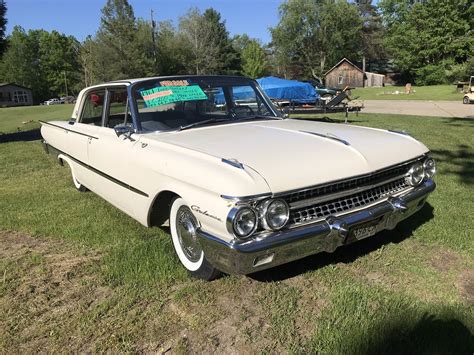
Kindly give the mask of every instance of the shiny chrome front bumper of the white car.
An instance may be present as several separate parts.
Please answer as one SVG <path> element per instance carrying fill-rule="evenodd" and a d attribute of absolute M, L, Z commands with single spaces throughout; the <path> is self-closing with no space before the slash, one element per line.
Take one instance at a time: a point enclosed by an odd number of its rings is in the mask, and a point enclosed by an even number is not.
<path fill-rule="evenodd" d="M 198 234 L 206 258 L 216 268 L 230 274 L 250 274 L 322 251 L 333 252 L 357 240 L 349 233 L 354 226 L 376 221 L 375 232 L 394 229 L 423 207 L 435 187 L 433 180 L 426 180 L 401 196 L 362 210 L 247 242 L 229 243 L 203 230 Z"/>

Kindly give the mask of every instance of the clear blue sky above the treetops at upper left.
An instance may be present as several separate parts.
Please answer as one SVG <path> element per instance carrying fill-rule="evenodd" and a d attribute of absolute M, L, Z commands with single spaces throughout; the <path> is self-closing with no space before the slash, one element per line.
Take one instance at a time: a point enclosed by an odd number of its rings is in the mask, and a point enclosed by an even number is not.
<path fill-rule="evenodd" d="M 57 30 L 83 40 L 95 34 L 100 23 L 100 9 L 106 0 L 6 0 L 7 33 L 13 26 L 25 29 Z M 176 24 L 190 7 L 204 10 L 213 7 L 226 20 L 231 35 L 247 33 L 263 42 L 270 40 L 269 27 L 278 22 L 281 0 L 129 0 L 136 17 L 172 20 Z"/>

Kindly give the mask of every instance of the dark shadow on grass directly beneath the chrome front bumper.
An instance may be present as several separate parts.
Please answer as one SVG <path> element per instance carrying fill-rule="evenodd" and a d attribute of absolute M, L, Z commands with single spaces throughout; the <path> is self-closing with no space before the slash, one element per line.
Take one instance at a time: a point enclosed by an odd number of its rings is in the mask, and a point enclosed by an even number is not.
<path fill-rule="evenodd" d="M 332 264 L 352 263 L 356 259 L 379 249 L 383 245 L 390 243 L 398 244 L 409 238 L 416 228 L 433 218 L 433 210 L 433 207 L 429 203 L 426 203 L 420 211 L 405 221 L 400 222 L 394 230 L 382 231 L 371 238 L 340 247 L 333 253 L 322 252 L 314 254 L 304 259 L 259 271 L 248 276 L 260 282 L 274 282 L 286 280 Z"/>

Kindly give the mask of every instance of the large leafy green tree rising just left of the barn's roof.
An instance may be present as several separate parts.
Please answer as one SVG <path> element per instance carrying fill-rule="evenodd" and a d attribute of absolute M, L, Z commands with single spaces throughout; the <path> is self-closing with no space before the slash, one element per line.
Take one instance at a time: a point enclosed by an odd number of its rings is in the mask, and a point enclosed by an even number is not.
<path fill-rule="evenodd" d="M 280 63 L 321 78 L 342 57 L 360 57 L 361 30 L 358 9 L 346 0 L 288 0 L 271 33 Z"/>

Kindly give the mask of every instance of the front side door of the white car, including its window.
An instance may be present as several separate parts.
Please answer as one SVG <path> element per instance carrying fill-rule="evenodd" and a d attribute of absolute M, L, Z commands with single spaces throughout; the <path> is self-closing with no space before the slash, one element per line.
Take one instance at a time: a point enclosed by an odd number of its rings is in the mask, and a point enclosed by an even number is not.
<path fill-rule="evenodd" d="M 141 171 L 136 155 L 141 147 L 128 134 L 117 136 L 114 127 L 130 125 L 132 120 L 126 86 L 107 88 L 106 107 L 102 124 L 88 145 L 89 165 L 95 169 L 94 191 L 107 201 L 134 216 L 134 206 L 146 203 L 148 195 L 140 188 Z"/>

